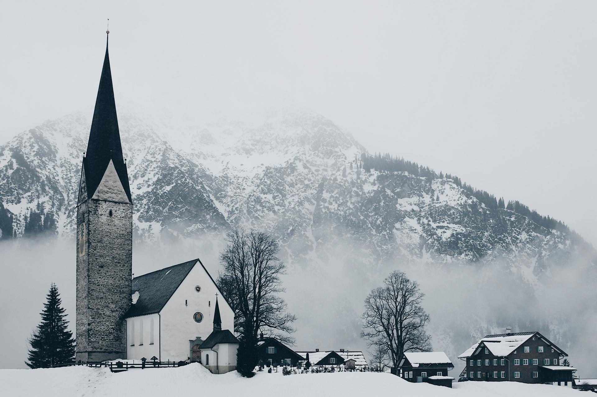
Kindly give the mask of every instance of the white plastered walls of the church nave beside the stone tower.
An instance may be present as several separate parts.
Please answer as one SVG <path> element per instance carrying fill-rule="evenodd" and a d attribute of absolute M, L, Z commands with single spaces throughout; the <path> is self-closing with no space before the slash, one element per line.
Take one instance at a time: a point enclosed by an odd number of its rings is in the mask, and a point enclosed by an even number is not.
<path fill-rule="evenodd" d="M 196 286 L 201 287 L 201 291 L 197 292 Z M 233 331 L 232 309 L 221 297 L 220 291 L 204 267 L 197 262 L 161 312 L 127 318 L 127 359 L 144 357 L 149 361 L 152 356 L 156 356 L 159 361 L 188 359 L 189 340 L 196 337 L 205 340 L 213 331 L 216 293 L 219 297 L 222 329 Z M 194 319 L 197 312 L 203 315 L 201 322 Z M 216 348 L 217 346 L 214 347 Z M 229 356 L 227 352 L 225 355 Z M 230 359 L 227 358 L 226 362 L 230 362 Z M 236 350 L 233 365 L 236 365 Z"/>

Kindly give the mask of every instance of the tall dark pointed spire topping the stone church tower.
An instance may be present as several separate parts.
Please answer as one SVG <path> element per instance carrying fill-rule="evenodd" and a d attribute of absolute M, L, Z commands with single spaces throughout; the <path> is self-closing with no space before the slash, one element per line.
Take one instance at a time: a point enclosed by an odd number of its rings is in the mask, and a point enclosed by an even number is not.
<path fill-rule="evenodd" d="M 110 58 L 108 56 L 108 33 L 109 31 L 106 30 L 106 56 L 101 70 L 100 87 L 97 90 L 96 108 L 93 112 L 87 153 L 83 162 L 85 182 L 87 183 L 88 198 L 91 198 L 96 192 L 110 160 L 112 160 L 122 187 L 127 193 L 129 201 L 131 201 L 127 166 L 122 156 L 120 131 L 118 130 L 118 118 L 116 117 L 112 72 L 110 71 Z"/>

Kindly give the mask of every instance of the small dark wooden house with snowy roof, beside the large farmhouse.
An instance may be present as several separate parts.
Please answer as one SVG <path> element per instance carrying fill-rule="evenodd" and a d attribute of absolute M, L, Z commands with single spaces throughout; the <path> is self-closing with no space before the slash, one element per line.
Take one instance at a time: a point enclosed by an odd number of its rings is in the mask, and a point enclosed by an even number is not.
<path fill-rule="evenodd" d="M 448 370 L 454 368 L 454 364 L 444 352 L 403 353 L 398 368 L 404 380 L 452 387 L 454 378 L 448 376 Z"/>

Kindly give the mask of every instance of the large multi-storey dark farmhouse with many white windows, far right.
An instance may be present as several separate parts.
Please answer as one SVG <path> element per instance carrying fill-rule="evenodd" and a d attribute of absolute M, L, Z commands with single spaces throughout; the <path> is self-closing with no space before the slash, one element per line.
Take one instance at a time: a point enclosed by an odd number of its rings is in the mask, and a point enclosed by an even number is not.
<path fill-rule="evenodd" d="M 559 365 L 566 356 L 564 350 L 533 331 L 488 335 L 458 358 L 466 361 L 469 380 L 568 386 L 575 369 Z"/>

